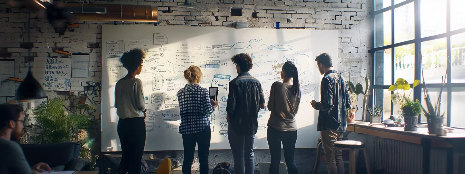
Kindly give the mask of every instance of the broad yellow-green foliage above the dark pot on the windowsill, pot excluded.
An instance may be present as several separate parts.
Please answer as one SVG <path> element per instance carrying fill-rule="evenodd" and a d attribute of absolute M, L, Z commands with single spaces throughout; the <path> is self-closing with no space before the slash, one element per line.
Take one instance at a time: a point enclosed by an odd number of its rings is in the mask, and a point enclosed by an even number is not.
<path fill-rule="evenodd" d="M 413 88 L 415 88 L 419 84 L 419 80 L 413 81 Z M 403 78 L 398 78 L 396 80 L 396 83 L 392 84 L 388 89 L 389 91 L 395 91 L 394 94 L 391 95 L 391 101 L 393 104 L 400 104 L 402 115 L 404 116 L 421 114 L 420 102 L 418 100 L 413 102 L 413 100 L 410 99 L 413 90 L 410 91 L 410 94 L 408 96 L 405 96 L 405 90 L 410 89 L 412 89 L 412 87 L 410 87 L 410 84 Z M 402 92 L 400 93 L 399 90 L 402 90 Z"/>

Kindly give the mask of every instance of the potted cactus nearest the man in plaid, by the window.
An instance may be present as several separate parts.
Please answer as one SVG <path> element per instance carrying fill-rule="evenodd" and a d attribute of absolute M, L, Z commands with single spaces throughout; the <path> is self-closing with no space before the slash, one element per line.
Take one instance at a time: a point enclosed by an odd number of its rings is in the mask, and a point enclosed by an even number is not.
<path fill-rule="evenodd" d="M 365 90 L 363 89 L 362 84 L 356 84 L 354 85 L 351 81 L 347 81 L 347 84 L 349 86 L 349 97 L 351 99 L 351 112 L 355 113 L 355 107 L 357 103 L 357 98 L 359 94 L 364 95 L 363 96 L 363 112 L 362 112 L 362 120 L 365 121 L 365 110 L 366 110 L 366 103 L 368 102 L 368 89 L 370 89 L 370 78 L 365 77 Z M 354 95 L 355 94 L 355 95 Z M 352 101 L 352 97 L 355 98 L 355 102 Z M 352 106 L 353 103 L 353 106 Z M 349 110 L 348 112 L 349 113 Z M 355 118 L 352 118 L 355 119 Z"/>

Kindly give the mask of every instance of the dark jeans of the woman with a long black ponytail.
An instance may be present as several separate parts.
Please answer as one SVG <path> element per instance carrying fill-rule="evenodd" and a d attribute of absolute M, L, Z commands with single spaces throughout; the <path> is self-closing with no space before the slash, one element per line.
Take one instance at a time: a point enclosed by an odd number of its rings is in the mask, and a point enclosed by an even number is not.
<path fill-rule="evenodd" d="M 294 161 L 295 142 L 297 141 L 296 131 L 282 131 L 268 127 L 266 132 L 268 146 L 270 147 L 271 164 L 270 174 L 279 173 L 279 162 L 281 161 L 281 142 L 284 148 L 284 160 L 286 161 L 287 173 L 298 174 Z"/>

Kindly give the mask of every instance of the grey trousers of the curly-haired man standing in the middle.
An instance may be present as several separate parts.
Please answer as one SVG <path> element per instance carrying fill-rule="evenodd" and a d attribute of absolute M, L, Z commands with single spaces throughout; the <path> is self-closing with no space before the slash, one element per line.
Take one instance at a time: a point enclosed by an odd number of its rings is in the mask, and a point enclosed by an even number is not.
<path fill-rule="evenodd" d="M 253 174 L 255 170 L 255 162 L 253 161 L 255 135 L 238 135 L 229 125 L 228 140 L 233 152 L 234 174 Z"/>

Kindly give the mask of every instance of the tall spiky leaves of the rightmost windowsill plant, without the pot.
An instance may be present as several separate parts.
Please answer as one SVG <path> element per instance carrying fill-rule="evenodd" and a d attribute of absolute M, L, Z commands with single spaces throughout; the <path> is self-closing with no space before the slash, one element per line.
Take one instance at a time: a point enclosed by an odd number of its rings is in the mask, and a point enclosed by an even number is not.
<path fill-rule="evenodd" d="M 420 52 L 420 64 L 421 64 L 421 61 L 422 61 L 422 56 L 421 56 L 421 52 Z M 422 67 L 422 71 L 421 71 L 421 76 L 423 78 L 423 84 L 425 85 L 425 90 L 423 90 L 424 92 L 424 95 L 425 95 L 425 102 L 426 102 L 426 108 L 428 110 L 425 110 L 425 108 L 423 106 L 421 106 L 421 109 L 423 110 L 423 113 L 425 114 L 426 118 L 428 120 L 431 120 L 433 117 L 443 117 L 444 116 L 444 112 L 441 114 L 440 112 L 440 107 L 441 107 L 441 96 L 442 96 L 442 90 L 444 89 L 444 85 L 445 85 L 445 79 L 447 78 L 447 70 L 449 69 L 449 61 L 450 61 L 450 58 L 447 58 L 447 66 L 446 66 L 446 71 L 445 71 L 445 77 L 442 78 L 443 80 L 441 80 L 441 83 L 442 83 L 442 86 L 441 86 L 441 90 L 439 91 L 439 97 L 438 97 L 438 101 L 434 103 L 434 106 L 431 102 L 431 98 L 430 98 L 430 95 L 429 95 L 429 92 L 428 92 L 428 87 L 426 87 L 426 83 L 425 83 L 425 75 L 423 74 L 423 67 Z M 417 100 L 417 102 L 419 102 Z"/>

